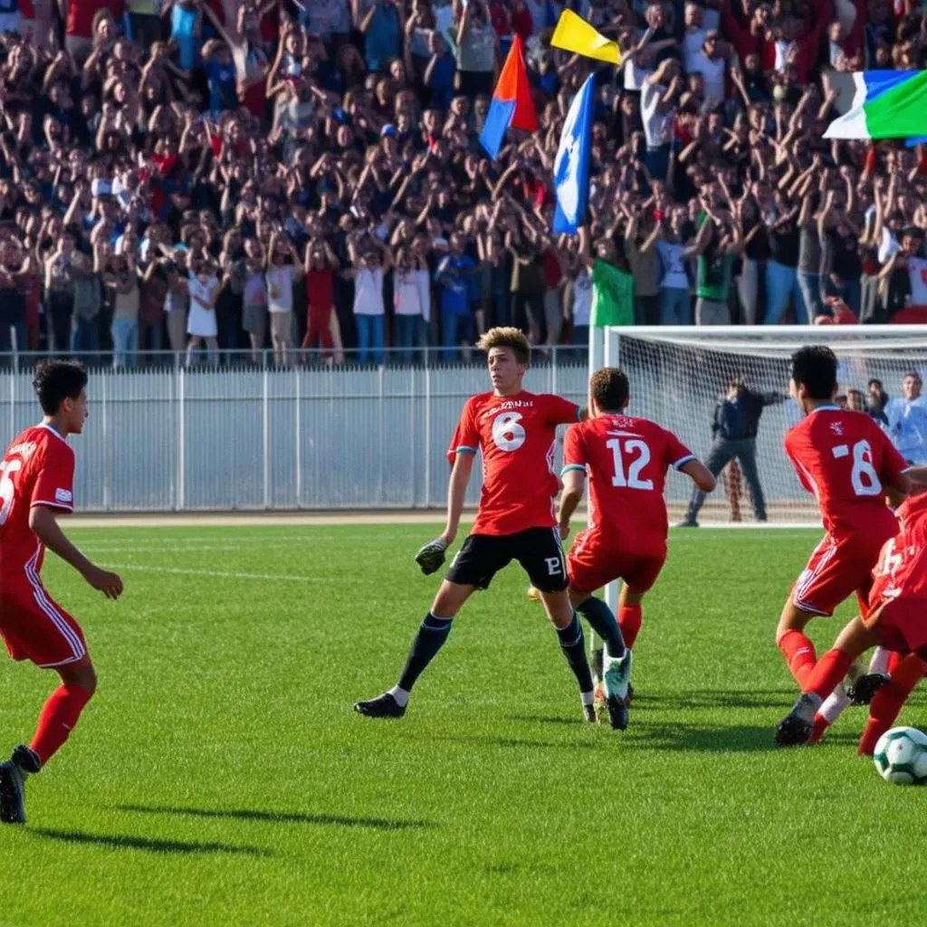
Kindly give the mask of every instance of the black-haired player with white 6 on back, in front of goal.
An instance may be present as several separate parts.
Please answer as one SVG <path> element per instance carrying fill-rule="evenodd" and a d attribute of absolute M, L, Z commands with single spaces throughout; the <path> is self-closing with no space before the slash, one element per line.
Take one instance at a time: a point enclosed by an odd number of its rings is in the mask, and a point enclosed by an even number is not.
<path fill-rule="evenodd" d="M 869 415 L 841 409 L 837 358 L 815 345 L 792 356 L 789 391 L 806 414 L 785 436 L 785 452 L 798 478 L 818 499 L 826 534 L 811 554 L 782 609 L 776 642 L 792 675 L 804 688 L 816 663 L 805 627 L 831 616 L 854 592 L 865 607 L 872 567 L 898 522 L 886 492 L 908 493 L 908 464 Z"/>

